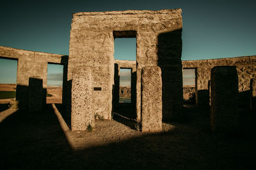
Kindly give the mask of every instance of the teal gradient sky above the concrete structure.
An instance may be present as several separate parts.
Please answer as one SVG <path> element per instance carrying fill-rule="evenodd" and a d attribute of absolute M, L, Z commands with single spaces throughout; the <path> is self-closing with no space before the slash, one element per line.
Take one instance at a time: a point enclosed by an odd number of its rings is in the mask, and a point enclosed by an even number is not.
<path fill-rule="evenodd" d="M 255 6 L 248 0 L 4 1 L 0 45 L 68 55 L 72 13 L 182 8 L 182 60 L 256 55 Z"/>

